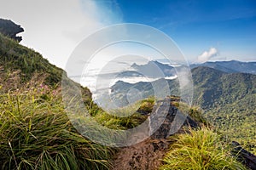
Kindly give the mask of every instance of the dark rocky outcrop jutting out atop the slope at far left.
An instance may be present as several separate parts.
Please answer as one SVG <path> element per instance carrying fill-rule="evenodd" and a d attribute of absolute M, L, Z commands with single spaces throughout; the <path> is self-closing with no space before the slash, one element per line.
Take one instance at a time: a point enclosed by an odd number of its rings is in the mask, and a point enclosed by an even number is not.
<path fill-rule="evenodd" d="M 13 21 L 0 19 L 0 33 L 2 33 L 4 36 L 10 37 L 15 39 L 17 42 L 20 42 L 22 37 L 17 37 L 16 34 L 23 31 L 24 29 L 19 25 L 16 25 Z"/>

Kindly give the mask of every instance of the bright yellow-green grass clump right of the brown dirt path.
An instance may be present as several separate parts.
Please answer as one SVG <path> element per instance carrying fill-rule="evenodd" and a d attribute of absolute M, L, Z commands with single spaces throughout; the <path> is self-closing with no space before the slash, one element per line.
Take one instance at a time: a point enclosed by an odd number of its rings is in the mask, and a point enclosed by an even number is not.
<path fill-rule="evenodd" d="M 227 144 L 207 127 L 189 130 L 172 137 L 175 140 L 164 158 L 161 170 L 167 169 L 246 169 L 232 157 Z"/>

